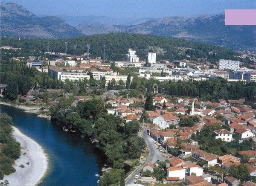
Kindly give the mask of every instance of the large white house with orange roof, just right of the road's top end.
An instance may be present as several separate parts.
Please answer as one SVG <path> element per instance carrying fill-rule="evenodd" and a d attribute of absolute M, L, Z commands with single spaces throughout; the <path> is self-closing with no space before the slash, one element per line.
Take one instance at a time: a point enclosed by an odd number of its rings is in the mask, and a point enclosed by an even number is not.
<path fill-rule="evenodd" d="M 157 124 L 161 128 L 165 129 L 169 127 L 170 124 L 177 125 L 179 122 L 179 118 L 177 116 L 173 116 L 170 113 L 158 116 L 153 119 L 153 123 Z"/>

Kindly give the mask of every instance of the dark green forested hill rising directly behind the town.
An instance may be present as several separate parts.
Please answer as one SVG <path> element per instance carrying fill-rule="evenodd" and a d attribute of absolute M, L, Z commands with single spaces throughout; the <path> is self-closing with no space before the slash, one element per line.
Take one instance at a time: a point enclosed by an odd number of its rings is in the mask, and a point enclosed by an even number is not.
<path fill-rule="evenodd" d="M 1 46 L 21 47 L 22 49 L 13 52 L 13 55 L 24 57 L 29 55 L 42 56 L 44 52 L 47 52 L 49 41 L 50 52 L 65 52 L 65 42 L 68 42 L 67 53 L 76 55 L 87 52 L 86 45 L 90 44 L 90 57 L 103 57 L 105 45 L 108 60 L 123 60 L 128 52 L 128 48 L 136 50 L 140 59 L 145 59 L 147 48 L 149 52 L 157 52 L 157 60 L 189 59 L 197 61 L 197 58 L 207 57 L 208 61 L 215 63 L 220 58 L 239 59 L 234 57 L 234 55 L 238 55 L 237 52 L 224 47 L 143 34 L 112 33 L 49 40 L 1 38 L 1 41 Z M 209 55 L 208 52 L 215 52 L 215 54 Z"/>

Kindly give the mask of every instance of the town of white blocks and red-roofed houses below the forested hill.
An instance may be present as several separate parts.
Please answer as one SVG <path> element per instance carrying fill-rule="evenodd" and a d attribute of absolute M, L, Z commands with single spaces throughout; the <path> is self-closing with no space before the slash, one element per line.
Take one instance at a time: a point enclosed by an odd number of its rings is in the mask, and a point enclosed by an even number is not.
<path fill-rule="evenodd" d="M 20 50 L 9 46 L 1 49 Z M 38 104 L 40 96 L 36 87 L 49 87 L 49 76 L 55 82 L 52 87 L 64 84 L 63 95 L 67 98 L 75 96 L 73 106 L 80 107 L 79 102 L 88 100 L 88 93 L 98 92 L 98 95 L 102 95 L 106 112 L 120 117 L 122 125 L 140 123 L 138 135 L 145 140 L 145 145 L 138 164 L 126 174 L 127 185 L 255 185 L 255 103 L 246 105 L 248 97 L 212 98 L 214 101 L 211 102 L 196 94 L 172 96 L 172 93 L 168 93 L 171 90 L 165 87 L 166 82 L 202 83 L 215 79 L 224 79 L 227 83 L 253 83 L 256 82 L 255 64 L 244 67 L 240 61 L 220 59 L 215 65 L 207 62 L 207 58 L 198 61 L 157 61 L 156 52 L 146 53 L 146 60 L 141 61 L 132 49 L 128 49 L 124 61 L 108 63 L 105 53 L 102 59 L 90 58 L 89 52 L 89 48 L 84 55 L 44 52 L 51 60 L 33 56 L 13 57 L 12 61 L 25 60 L 27 67 L 44 74 L 44 85 L 32 83 L 29 93 L 20 96 L 19 101 Z M 209 52 L 209 55 L 215 54 Z M 239 58 L 248 56 L 241 54 Z M 255 63 L 255 55 L 250 55 L 250 60 Z M 83 84 L 83 91 L 80 84 Z M 79 87 L 78 90 L 76 87 Z M 144 90 L 139 92 L 138 88 Z M 101 90 L 105 92 L 102 94 Z M 48 91 L 52 92 L 51 89 Z M 1 84 L 1 96 L 5 97 L 6 92 L 8 85 Z M 41 96 L 42 101 L 46 106 L 57 107 L 58 102 L 56 99 L 50 100 L 49 93 Z M 44 114 L 48 119 L 54 116 L 50 116 L 49 108 L 44 108 Z M 64 126 L 63 129 L 71 132 L 77 130 L 73 125 Z M 108 171 L 105 169 L 105 172 Z"/>

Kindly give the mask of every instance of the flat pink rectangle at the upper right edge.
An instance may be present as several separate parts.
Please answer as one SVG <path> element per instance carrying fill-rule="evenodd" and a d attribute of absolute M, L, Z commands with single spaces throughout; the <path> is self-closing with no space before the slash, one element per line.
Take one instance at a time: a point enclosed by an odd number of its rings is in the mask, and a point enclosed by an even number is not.
<path fill-rule="evenodd" d="M 256 25 L 256 9 L 225 10 L 225 25 Z"/>

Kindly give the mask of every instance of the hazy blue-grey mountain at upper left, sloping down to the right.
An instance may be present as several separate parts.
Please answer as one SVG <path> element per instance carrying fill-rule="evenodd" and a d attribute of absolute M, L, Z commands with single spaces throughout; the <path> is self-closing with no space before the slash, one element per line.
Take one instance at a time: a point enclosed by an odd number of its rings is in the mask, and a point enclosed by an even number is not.
<path fill-rule="evenodd" d="M 1 2 L 1 36 L 27 38 L 70 38 L 83 35 L 65 20 L 37 17 L 16 3 Z"/>

